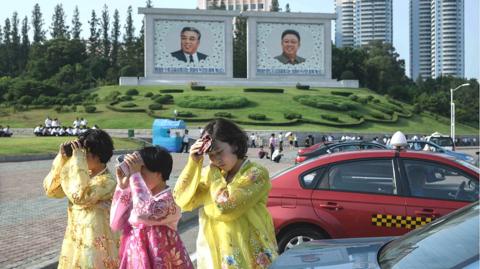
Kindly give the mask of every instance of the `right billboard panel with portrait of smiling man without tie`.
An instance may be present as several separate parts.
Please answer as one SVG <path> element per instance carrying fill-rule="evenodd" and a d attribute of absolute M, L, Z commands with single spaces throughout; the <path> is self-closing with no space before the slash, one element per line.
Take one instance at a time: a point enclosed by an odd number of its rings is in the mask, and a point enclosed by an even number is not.
<path fill-rule="evenodd" d="M 258 22 L 257 76 L 325 75 L 325 25 Z"/>

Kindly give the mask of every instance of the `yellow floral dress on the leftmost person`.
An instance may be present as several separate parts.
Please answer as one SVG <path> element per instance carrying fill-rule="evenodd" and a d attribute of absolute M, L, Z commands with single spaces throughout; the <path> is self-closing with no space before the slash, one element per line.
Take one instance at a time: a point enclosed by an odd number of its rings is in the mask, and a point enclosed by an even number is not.
<path fill-rule="evenodd" d="M 68 199 L 58 268 L 118 268 L 119 235 L 109 223 L 115 186 L 107 170 L 90 178 L 84 151 L 56 156 L 43 187 L 48 197 Z"/>

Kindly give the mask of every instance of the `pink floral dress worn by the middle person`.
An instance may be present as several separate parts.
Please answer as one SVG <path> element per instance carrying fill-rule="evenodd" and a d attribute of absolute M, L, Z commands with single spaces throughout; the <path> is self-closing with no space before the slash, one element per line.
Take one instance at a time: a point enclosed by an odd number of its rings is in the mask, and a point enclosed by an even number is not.
<path fill-rule="evenodd" d="M 110 226 L 123 230 L 120 268 L 193 268 L 177 233 L 180 208 L 169 188 L 152 195 L 140 173 L 113 196 Z"/>

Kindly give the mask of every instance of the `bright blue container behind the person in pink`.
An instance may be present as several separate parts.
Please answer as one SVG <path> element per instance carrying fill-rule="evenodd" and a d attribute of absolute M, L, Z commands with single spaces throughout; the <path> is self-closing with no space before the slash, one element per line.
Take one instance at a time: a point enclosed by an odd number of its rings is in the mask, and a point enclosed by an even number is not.
<path fill-rule="evenodd" d="M 156 119 L 152 124 L 152 144 L 170 152 L 180 152 L 182 137 L 171 133 L 171 129 L 185 129 L 183 120 Z"/>

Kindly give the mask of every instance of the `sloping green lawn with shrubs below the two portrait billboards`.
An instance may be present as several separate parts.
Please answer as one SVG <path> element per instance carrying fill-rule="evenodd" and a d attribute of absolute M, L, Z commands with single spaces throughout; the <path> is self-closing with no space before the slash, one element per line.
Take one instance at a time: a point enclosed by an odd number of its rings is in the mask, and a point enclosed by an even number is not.
<path fill-rule="evenodd" d="M 344 100 L 345 102 L 353 102 L 348 97 L 339 97 L 331 94 L 332 91 L 349 91 L 355 95 L 364 98 L 369 95 L 378 99 L 383 105 L 392 105 L 388 103 L 384 96 L 377 95 L 368 89 L 331 89 L 331 88 L 316 88 L 312 90 L 298 90 L 295 88 L 284 88 L 285 93 L 245 93 L 243 87 L 209 87 L 207 91 L 192 91 L 185 86 L 105 86 L 92 89 L 91 92 L 98 94 L 100 102 L 96 104 L 97 112 L 85 113 L 82 112 L 82 107 L 79 106 L 78 112 L 57 113 L 52 109 L 32 109 L 24 112 L 13 112 L 11 108 L 0 108 L 0 124 L 10 125 L 13 128 L 33 128 L 35 125 L 43 123 L 46 116 L 52 118 L 59 118 L 64 125 L 71 125 L 75 117 L 85 117 L 89 124 L 97 124 L 100 128 L 121 128 L 121 129 L 149 129 L 152 126 L 154 117 L 149 116 L 145 112 L 116 112 L 107 108 L 108 101 L 105 97 L 113 91 L 119 91 L 124 94 L 128 89 L 136 88 L 140 94 L 134 97 L 133 101 L 138 108 L 148 108 L 152 104 L 151 98 L 146 98 L 144 95 L 147 92 L 153 94 L 161 94 L 160 89 L 183 89 L 183 93 L 172 93 L 174 96 L 174 103 L 163 105 L 163 109 L 154 112 L 157 118 L 172 118 L 173 111 L 190 111 L 195 114 L 191 121 L 185 118 L 188 128 L 196 128 L 204 125 L 208 119 L 214 118 L 214 114 L 219 111 L 230 112 L 234 117 L 233 120 L 241 121 L 241 124 L 246 129 L 257 130 L 289 130 L 289 131 L 318 131 L 318 132 L 363 132 L 363 133 L 393 133 L 401 130 L 405 133 L 423 133 L 430 134 L 434 131 L 442 133 L 449 133 L 449 119 L 440 116 L 433 116 L 427 113 L 420 115 L 413 115 L 412 117 L 398 117 L 396 122 L 379 123 L 372 122 L 372 113 L 384 114 L 387 118 L 391 116 L 382 113 L 375 109 L 375 104 L 369 102 L 368 104 L 356 103 L 353 109 L 360 113 L 367 119 L 358 126 L 342 127 L 332 126 L 338 123 L 349 124 L 356 123 L 358 120 L 348 115 L 349 111 L 331 111 L 319 109 L 307 105 L 303 105 L 293 100 L 294 96 L 307 95 L 312 98 L 319 98 L 325 102 L 333 102 L 335 100 Z M 181 100 L 184 96 L 215 96 L 215 97 L 245 97 L 250 101 L 250 105 L 237 109 L 196 109 L 196 108 L 182 108 L 176 105 L 176 102 Z M 343 98 L 343 99 L 339 99 Z M 124 103 L 124 102 L 123 102 Z M 354 102 L 355 103 L 355 102 Z M 122 103 L 115 105 L 120 108 Z M 408 104 L 402 104 L 406 111 L 411 111 L 412 107 Z M 295 112 L 302 114 L 305 119 L 314 120 L 324 124 L 312 123 L 296 123 L 293 125 L 275 125 L 276 123 L 288 122 L 284 118 L 284 113 Z M 261 113 L 267 116 L 266 121 L 254 121 L 248 118 L 249 114 Z M 339 119 L 339 122 L 331 122 L 321 118 L 321 115 L 333 115 Z M 409 114 L 409 113 L 406 113 Z M 204 119 L 204 120 L 202 120 Z M 255 123 L 255 124 L 252 124 Z M 478 129 L 457 123 L 457 134 L 477 134 Z"/>

